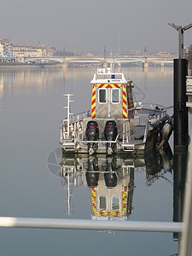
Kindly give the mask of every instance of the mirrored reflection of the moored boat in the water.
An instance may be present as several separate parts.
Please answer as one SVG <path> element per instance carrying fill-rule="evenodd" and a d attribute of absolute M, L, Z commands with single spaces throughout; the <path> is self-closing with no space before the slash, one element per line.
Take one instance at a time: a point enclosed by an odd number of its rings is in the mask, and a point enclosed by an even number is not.
<path fill-rule="evenodd" d="M 132 213 L 134 172 L 144 172 L 151 185 L 165 172 L 172 172 L 172 150 L 160 148 L 148 154 L 134 156 L 63 154 L 61 180 L 68 190 L 68 214 L 72 214 L 73 186 L 91 189 L 92 219 L 125 220 Z M 172 183 L 172 182 L 171 182 Z"/>

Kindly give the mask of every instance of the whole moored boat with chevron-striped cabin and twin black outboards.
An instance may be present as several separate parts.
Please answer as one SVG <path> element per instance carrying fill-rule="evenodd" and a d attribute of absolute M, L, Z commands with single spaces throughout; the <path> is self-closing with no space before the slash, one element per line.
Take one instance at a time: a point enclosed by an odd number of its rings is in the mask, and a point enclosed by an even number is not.
<path fill-rule="evenodd" d="M 158 104 L 133 101 L 133 83 L 123 73 L 97 70 L 90 81 L 90 111 L 62 119 L 63 152 L 74 154 L 144 154 L 162 147 L 172 133 L 172 118 Z"/>

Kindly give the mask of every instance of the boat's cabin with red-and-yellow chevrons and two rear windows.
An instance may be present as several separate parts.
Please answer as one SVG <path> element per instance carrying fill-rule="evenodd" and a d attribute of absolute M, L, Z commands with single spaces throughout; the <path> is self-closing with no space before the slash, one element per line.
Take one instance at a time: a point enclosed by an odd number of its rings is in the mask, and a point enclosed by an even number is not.
<path fill-rule="evenodd" d="M 132 81 L 123 73 L 99 68 L 92 84 L 91 117 L 93 119 L 127 119 L 133 108 Z"/>

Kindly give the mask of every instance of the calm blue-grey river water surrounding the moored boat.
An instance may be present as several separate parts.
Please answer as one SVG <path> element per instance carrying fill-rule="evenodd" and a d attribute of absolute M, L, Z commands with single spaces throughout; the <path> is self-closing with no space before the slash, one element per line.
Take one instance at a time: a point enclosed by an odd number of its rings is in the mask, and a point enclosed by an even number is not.
<path fill-rule="evenodd" d="M 95 72 L 96 69 L 91 68 L 63 71 L 60 67 L 0 71 L 0 216 L 90 219 L 94 215 L 92 189 L 87 185 L 84 172 L 76 186 L 71 177 L 73 195 L 68 206 L 67 178 L 59 177 L 61 155 L 56 148 L 60 147 L 61 119 L 66 115 L 62 109 L 66 99 L 62 95 L 75 95 L 73 113 L 88 110 L 90 79 Z M 148 73 L 144 73 L 142 67 L 129 67 L 123 68 L 123 72 L 133 79 L 137 99 L 172 105 L 172 67 L 150 67 Z M 172 148 L 172 137 L 170 145 Z M 55 160 L 51 158 L 53 154 Z M 127 177 L 118 179 L 117 187 L 131 180 L 130 208 L 125 221 L 172 221 L 180 214 L 176 214 L 180 210 L 175 198 L 182 197 L 182 191 L 179 196 L 175 193 L 172 156 L 167 161 L 162 153 L 156 159 L 133 160 L 132 167 L 129 163 L 126 169 Z M 52 167 L 47 165 L 50 161 L 53 161 Z M 93 160 L 86 161 L 92 163 Z M 115 161 L 119 168 L 122 165 L 118 159 L 104 157 L 98 161 L 102 163 L 99 168 L 108 163 L 112 168 Z M 67 160 L 62 159 L 62 163 L 66 164 Z M 160 165 L 155 166 L 156 163 Z M 87 165 L 84 163 L 84 170 Z M 103 182 L 100 186 L 106 189 L 102 174 L 100 180 Z M 6 256 L 67 253 L 162 256 L 173 255 L 178 250 L 177 239 L 170 233 L 0 229 L 0 237 L 0 254 Z"/>

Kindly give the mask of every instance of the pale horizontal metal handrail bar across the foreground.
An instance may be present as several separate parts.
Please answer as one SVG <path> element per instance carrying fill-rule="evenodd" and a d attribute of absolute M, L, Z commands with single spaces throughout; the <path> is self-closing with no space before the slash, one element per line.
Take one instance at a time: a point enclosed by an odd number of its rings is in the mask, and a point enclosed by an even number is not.
<path fill-rule="evenodd" d="M 0 227 L 65 229 L 65 230 L 119 230 L 148 232 L 182 232 L 183 223 L 63 219 L 63 218 L 15 218 L 0 217 Z"/>

